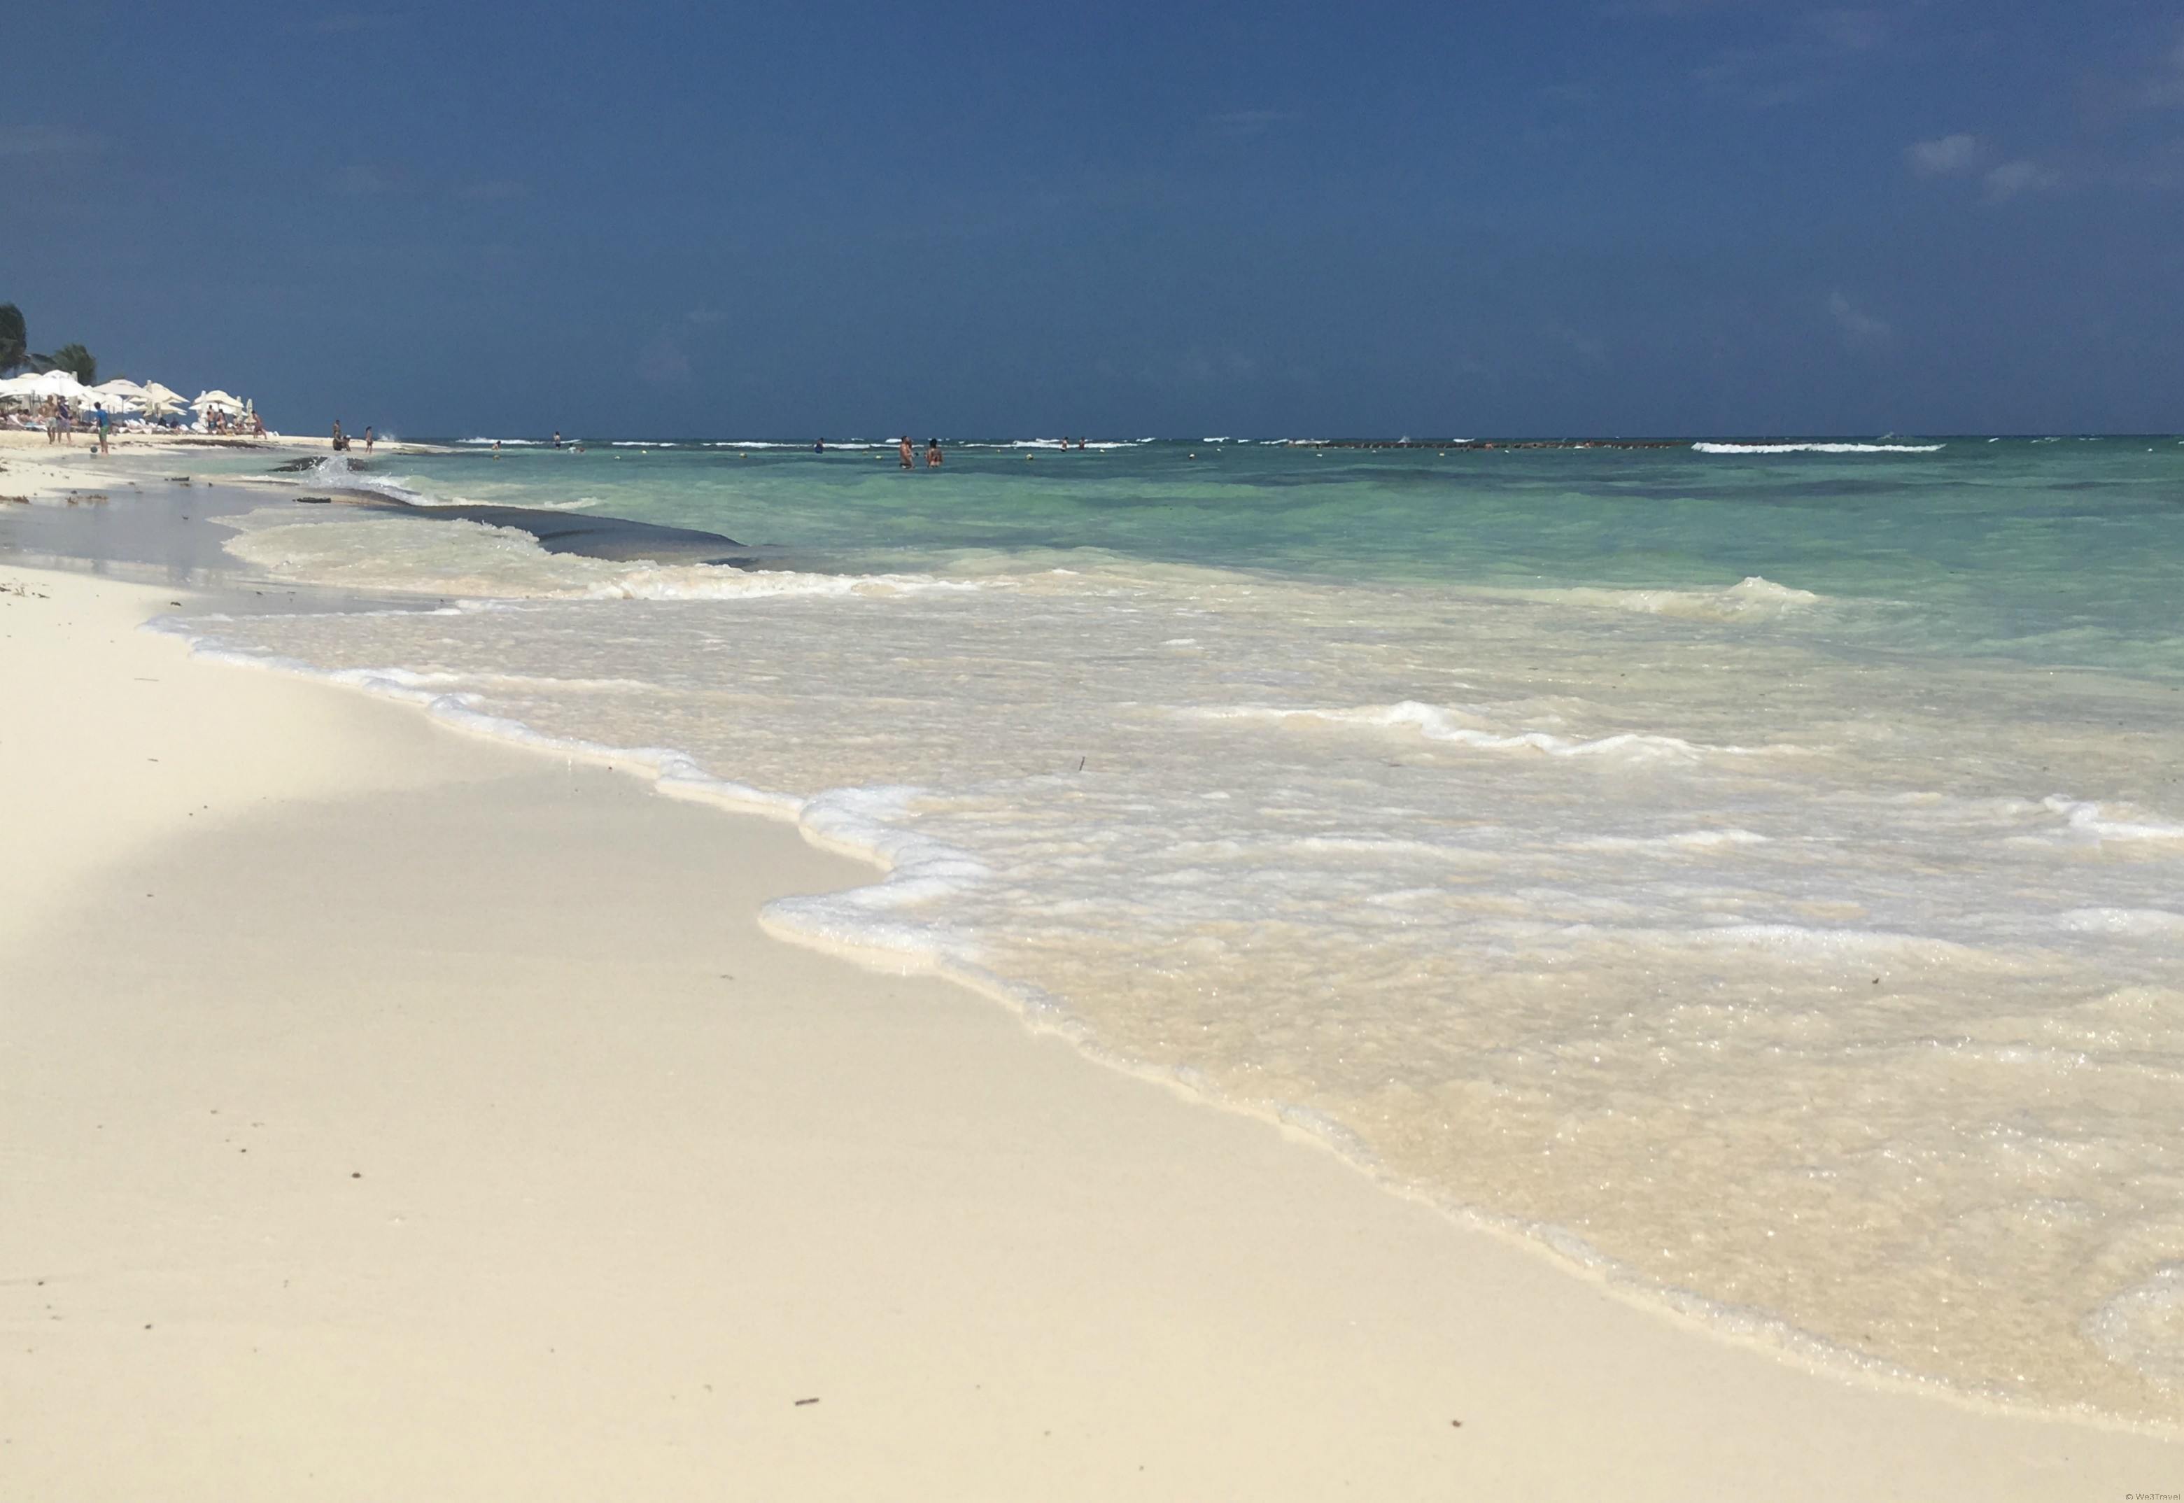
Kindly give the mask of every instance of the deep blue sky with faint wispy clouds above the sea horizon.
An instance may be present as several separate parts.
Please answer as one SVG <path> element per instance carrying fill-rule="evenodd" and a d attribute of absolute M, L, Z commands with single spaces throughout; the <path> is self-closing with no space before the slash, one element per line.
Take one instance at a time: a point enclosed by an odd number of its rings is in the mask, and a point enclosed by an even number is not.
<path fill-rule="evenodd" d="M 74 0 L 7 59 L 33 350 L 288 430 L 2184 428 L 2173 2 Z"/>

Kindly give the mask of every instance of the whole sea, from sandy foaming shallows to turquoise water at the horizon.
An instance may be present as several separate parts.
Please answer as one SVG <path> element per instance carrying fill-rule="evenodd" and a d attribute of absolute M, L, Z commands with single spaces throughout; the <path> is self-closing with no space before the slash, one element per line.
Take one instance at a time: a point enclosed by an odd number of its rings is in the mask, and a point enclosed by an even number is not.
<path fill-rule="evenodd" d="M 280 500 L 229 551 L 384 607 L 170 629 L 793 817 L 878 865 L 775 933 L 957 974 L 1640 1298 L 2184 1416 L 2173 437 L 911 474 L 474 439 L 308 481 L 767 568 Z"/>

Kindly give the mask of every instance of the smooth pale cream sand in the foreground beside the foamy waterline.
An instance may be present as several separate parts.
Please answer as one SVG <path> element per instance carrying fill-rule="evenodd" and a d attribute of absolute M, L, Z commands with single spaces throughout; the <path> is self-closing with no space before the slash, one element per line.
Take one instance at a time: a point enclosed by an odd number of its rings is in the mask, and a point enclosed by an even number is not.
<path fill-rule="evenodd" d="M 2184 1492 L 780 944 L 867 869 L 177 599 L 0 561 L 4 1499 Z"/>

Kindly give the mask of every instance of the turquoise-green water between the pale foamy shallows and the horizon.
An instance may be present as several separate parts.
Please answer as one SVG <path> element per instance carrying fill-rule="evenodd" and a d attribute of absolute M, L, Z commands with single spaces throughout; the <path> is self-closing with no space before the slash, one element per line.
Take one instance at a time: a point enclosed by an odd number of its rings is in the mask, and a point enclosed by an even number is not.
<path fill-rule="evenodd" d="M 1937 439 L 1885 439 L 1926 446 Z M 1872 443 L 1872 441 L 1867 441 Z M 583 502 L 828 568 L 1096 548 L 1308 579 L 1690 590 L 1760 575 L 1876 610 L 1852 644 L 2184 673 L 2184 443 L 1950 439 L 1937 452 L 1321 450 L 1129 443 L 553 448 L 387 457 L 439 498 Z M 472 446 L 476 448 L 476 446 Z"/>

